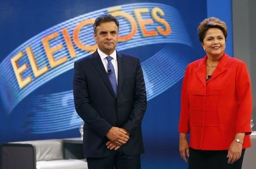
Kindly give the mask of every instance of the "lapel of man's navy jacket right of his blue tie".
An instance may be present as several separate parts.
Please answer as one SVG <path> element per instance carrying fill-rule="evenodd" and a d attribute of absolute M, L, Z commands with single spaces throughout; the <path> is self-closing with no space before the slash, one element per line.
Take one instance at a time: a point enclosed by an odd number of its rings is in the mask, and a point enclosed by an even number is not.
<path fill-rule="evenodd" d="M 117 74 L 117 81 L 118 81 L 118 90 L 117 90 L 117 96 L 119 95 L 119 93 L 121 92 L 121 87 L 122 87 L 122 82 L 123 82 L 123 57 L 121 53 L 117 52 L 117 69 L 118 69 L 118 74 Z"/>

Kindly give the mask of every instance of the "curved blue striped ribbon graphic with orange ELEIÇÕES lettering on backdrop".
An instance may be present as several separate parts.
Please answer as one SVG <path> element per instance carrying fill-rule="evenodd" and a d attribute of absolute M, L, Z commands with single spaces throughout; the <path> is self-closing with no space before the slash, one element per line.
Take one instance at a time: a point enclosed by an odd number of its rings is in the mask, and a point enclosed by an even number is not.
<path fill-rule="evenodd" d="M 138 15 L 138 11 L 141 15 Z M 156 15 L 153 14 L 154 11 Z M 183 56 L 182 52 L 173 49 L 172 44 L 191 47 L 191 40 L 179 11 L 161 3 L 129 3 L 69 19 L 48 28 L 14 49 L 0 64 L 4 67 L 0 72 L 0 90 L 6 111 L 11 113 L 31 92 L 73 69 L 73 62 L 92 53 L 97 48 L 92 36 L 93 20 L 97 16 L 109 13 L 117 15 L 120 23 L 119 36 L 126 37 L 119 40 L 117 47 L 119 52 L 144 45 L 163 44 L 162 49 L 142 62 L 147 100 L 162 94 L 183 78 L 189 59 Z M 142 21 L 138 16 L 141 16 L 143 20 L 154 21 L 147 24 L 147 31 L 143 29 Z M 161 33 L 161 30 L 164 32 L 163 30 L 167 29 L 163 20 L 170 26 L 170 33 Z M 154 32 L 156 29 L 157 35 L 145 34 L 145 32 Z M 14 58 L 19 58 L 15 62 L 17 67 L 27 65 L 19 75 L 22 76 L 23 83 L 26 79 L 30 81 L 22 87 L 17 82 L 14 64 L 11 64 Z M 35 74 L 31 58 L 38 72 L 44 70 L 39 75 Z M 31 116 L 27 119 L 28 125 L 26 126 L 26 131 L 29 133 L 60 132 L 77 128 L 81 123 L 73 105 L 72 90 L 35 96 L 30 104 Z"/>

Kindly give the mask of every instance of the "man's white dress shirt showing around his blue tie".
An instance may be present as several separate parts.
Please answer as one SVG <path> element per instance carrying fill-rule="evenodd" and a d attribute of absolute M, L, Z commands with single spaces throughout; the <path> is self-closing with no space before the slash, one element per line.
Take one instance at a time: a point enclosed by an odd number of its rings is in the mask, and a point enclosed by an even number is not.
<path fill-rule="evenodd" d="M 117 68 L 117 51 L 114 50 L 114 52 L 112 54 L 110 54 L 110 55 L 106 55 L 100 49 L 97 49 L 97 52 L 98 52 L 98 54 L 101 57 L 101 61 L 102 61 L 102 64 L 104 65 L 104 67 L 105 67 L 106 72 L 108 72 L 108 60 L 106 60 L 106 57 L 107 56 L 111 56 L 113 58 L 111 60 L 111 62 L 112 62 L 113 66 L 114 66 L 114 69 L 115 69 L 115 79 L 117 79 L 117 73 L 118 73 L 118 68 Z M 118 84 L 118 82 L 117 82 L 117 84 Z"/>

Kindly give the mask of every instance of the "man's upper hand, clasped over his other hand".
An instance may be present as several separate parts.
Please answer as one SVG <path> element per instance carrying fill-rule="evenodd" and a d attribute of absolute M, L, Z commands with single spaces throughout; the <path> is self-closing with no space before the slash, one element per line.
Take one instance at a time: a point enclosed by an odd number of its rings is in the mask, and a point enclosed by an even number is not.
<path fill-rule="evenodd" d="M 123 145 L 129 140 L 129 136 L 127 136 L 127 132 L 124 129 L 120 129 L 117 127 L 112 127 L 109 129 L 109 132 L 106 134 L 106 137 L 117 145 Z"/>

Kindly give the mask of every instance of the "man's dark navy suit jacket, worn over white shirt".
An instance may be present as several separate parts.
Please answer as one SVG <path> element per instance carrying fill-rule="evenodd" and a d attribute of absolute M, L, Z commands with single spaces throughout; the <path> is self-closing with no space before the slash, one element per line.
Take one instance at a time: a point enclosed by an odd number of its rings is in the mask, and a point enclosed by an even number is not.
<path fill-rule="evenodd" d="M 117 52 L 118 95 L 97 50 L 75 62 L 73 94 L 78 115 L 85 121 L 85 157 L 106 157 L 106 133 L 112 126 L 126 129 L 130 140 L 122 145 L 126 155 L 144 152 L 141 123 L 147 107 L 146 88 L 138 58 Z"/>

